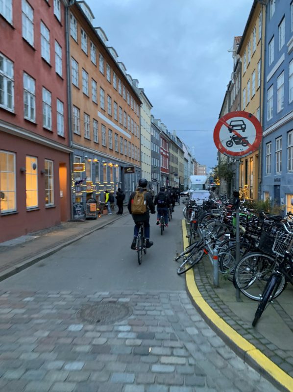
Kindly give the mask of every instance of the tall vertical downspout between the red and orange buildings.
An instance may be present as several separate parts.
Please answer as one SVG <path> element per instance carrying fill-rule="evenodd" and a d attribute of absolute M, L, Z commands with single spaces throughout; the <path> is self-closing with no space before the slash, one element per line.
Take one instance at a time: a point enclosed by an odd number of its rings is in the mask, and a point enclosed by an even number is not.
<path fill-rule="evenodd" d="M 72 138 L 72 116 L 71 116 L 71 70 L 70 70 L 70 44 L 69 44 L 69 8 L 74 4 L 74 0 L 70 0 L 68 5 L 65 6 L 65 39 L 66 39 L 66 69 L 67 69 L 67 115 L 68 115 L 68 137 L 69 137 L 69 147 L 73 147 Z M 73 151 L 70 153 L 70 171 L 73 171 Z M 73 188 L 70 184 L 70 207 L 71 207 L 71 219 L 73 219 Z"/>

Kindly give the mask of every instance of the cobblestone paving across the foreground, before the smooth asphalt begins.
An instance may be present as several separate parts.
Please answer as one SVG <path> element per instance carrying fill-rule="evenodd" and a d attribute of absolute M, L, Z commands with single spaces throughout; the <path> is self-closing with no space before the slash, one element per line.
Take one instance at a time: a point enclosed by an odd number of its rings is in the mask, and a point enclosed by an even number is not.
<path fill-rule="evenodd" d="M 100 325 L 80 309 L 123 304 Z M 87 309 L 86 308 L 86 309 Z M 85 312 L 88 317 L 90 313 Z M 108 312 L 107 317 L 119 317 Z M 96 319 L 96 321 L 98 321 Z M 0 291 L 1 392 L 274 392 L 184 291 Z"/>

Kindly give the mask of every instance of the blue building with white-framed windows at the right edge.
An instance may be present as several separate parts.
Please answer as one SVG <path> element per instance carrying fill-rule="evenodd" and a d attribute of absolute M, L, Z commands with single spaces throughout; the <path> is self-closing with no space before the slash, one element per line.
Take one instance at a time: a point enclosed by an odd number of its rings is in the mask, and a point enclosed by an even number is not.
<path fill-rule="evenodd" d="M 266 7 L 261 198 L 293 211 L 293 3 Z"/>

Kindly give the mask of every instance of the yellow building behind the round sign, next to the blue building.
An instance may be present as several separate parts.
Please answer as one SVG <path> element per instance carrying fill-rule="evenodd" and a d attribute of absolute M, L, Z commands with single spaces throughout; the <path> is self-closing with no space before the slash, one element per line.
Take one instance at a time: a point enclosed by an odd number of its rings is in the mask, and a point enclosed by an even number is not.
<path fill-rule="evenodd" d="M 253 1 L 237 54 L 242 64 L 241 110 L 252 113 L 262 123 L 263 74 L 265 51 L 266 7 Z M 261 147 L 260 147 L 261 148 Z M 244 157 L 240 165 L 240 188 L 245 188 L 246 196 L 258 199 L 260 180 L 260 148 Z"/>

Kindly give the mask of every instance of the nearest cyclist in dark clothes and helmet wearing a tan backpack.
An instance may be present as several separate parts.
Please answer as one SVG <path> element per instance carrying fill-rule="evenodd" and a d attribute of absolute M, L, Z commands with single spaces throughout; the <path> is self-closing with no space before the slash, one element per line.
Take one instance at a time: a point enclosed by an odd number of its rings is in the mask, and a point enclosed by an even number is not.
<path fill-rule="evenodd" d="M 145 178 L 141 178 L 138 181 L 138 187 L 136 191 L 132 192 L 128 201 L 127 208 L 129 214 L 132 215 L 132 218 L 135 222 L 133 241 L 130 246 L 131 249 L 135 249 L 136 247 L 136 239 L 139 232 L 138 223 L 140 222 L 143 222 L 145 226 L 146 247 L 149 248 L 153 245 L 153 242 L 149 241 L 149 211 L 151 212 L 151 214 L 155 214 L 156 210 L 154 203 L 151 199 L 151 195 L 149 192 L 147 192 L 146 187 L 147 180 Z"/>

